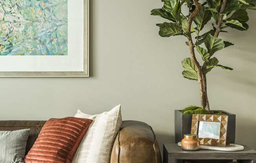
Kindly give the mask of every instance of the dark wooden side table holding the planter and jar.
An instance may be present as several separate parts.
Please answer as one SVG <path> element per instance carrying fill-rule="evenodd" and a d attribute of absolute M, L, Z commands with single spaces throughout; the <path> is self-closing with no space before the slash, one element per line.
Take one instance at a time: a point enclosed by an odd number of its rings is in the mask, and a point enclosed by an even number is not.
<path fill-rule="evenodd" d="M 256 163 L 256 151 L 246 145 L 244 150 L 224 152 L 217 150 L 185 151 L 177 144 L 163 145 L 163 163 L 182 163 L 183 160 L 237 160 L 238 163 Z"/>

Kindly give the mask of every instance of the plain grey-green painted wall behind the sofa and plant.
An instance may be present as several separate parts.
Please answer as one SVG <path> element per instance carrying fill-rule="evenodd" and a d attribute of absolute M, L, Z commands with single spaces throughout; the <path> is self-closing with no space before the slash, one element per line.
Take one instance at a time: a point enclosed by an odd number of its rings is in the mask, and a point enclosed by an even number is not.
<path fill-rule="evenodd" d="M 174 110 L 199 105 L 197 82 L 182 77 L 188 57 L 182 36 L 161 38 L 150 16 L 160 0 L 91 0 L 90 78 L 1 78 L 1 120 L 47 120 L 122 104 L 124 120 L 150 124 L 159 143 L 174 142 Z M 256 13 L 250 28 L 221 38 L 235 46 L 216 54 L 232 72 L 208 74 L 211 109 L 237 115 L 236 142 L 256 149 Z M 208 25 L 211 26 L 210 24 Z"/>

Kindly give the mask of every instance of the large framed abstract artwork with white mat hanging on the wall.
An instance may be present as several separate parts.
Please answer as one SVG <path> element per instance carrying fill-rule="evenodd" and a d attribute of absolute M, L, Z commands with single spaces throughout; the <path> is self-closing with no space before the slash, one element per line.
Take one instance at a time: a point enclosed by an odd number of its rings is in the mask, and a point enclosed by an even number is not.
<path fill-rule="evenodd" d="M 89 0 L 0 0 L 0 77 L 88 77 Z"/>

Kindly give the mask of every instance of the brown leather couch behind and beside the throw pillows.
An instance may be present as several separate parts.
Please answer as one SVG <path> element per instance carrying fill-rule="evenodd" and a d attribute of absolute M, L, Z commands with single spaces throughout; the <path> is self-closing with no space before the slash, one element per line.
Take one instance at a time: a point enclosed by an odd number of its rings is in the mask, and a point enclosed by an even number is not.
<path fill-rule="evenodd" d="M 0 131 L 31 129 L 26 154 L 46 121 L 0 121 Z M 162 163 L 152 128 L 140 121 L 123 121 L 112 149 L 110 163 Z"/>

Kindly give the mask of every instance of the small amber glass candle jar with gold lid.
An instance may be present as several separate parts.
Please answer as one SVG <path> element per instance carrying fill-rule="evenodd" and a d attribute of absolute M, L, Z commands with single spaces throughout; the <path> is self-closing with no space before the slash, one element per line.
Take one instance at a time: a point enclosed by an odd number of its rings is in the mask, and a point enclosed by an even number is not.
<path fill-rule="evenodd" d="M 185 134 L 181 141 L 181 149 L 183 150 L 199 150 L 200 143 L 197 140 L 198 135 Z"/>

